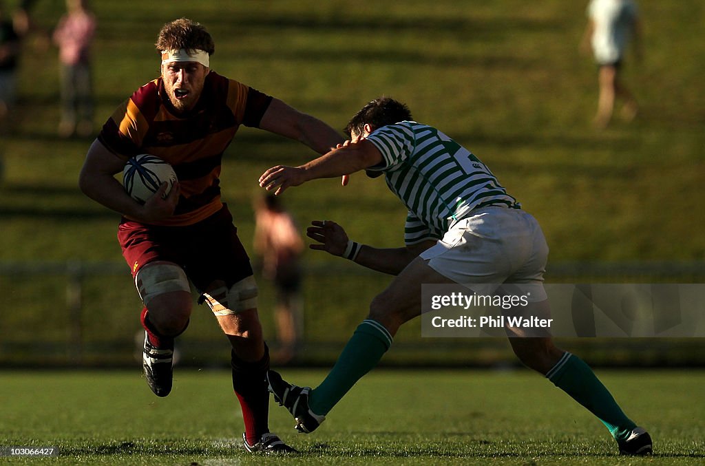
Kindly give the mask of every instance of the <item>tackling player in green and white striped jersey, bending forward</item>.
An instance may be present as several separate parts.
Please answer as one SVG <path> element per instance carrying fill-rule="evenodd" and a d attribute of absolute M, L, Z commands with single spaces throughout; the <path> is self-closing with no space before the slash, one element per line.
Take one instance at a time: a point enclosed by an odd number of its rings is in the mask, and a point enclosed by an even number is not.
<path fill-rule="evenodd" d="M 422 284 L 461 283 L 487 287 L 519 284 L 530 289 L 532 314 L 548 315 L 543 286 L 548 246 L 533 216 L 470 151 L 440 130 L 412 121 L 405 104 L 388 97 L 369 102 L 353 116 L 351 140 L 298 167 L 274 166 L 259 183 L 277 195 L 306 181 L 366 170 L 384 174 L 390 190 L 408 209 L 405 247 L 379 249 L 348 239 L 332 221 L 314 221 L 307 235 L 324 250 L 376 271 L 396 275 L 369 306 L 326 379 L 316 388 L 283 381 L 269 371 L 269 389 L 309 433 L 319 427 L 345 393 L 390 348 L 406 321 L 421 314 Z M 486 288 L 482 288 L 486 289 Z M 578 403 L 609 429 L 620 453 L 651 453 L 648 433 L 629 419 L 579 357 L 556 348 L 548 333 L 527 337 L 507 328 L 519 359 Z"/>

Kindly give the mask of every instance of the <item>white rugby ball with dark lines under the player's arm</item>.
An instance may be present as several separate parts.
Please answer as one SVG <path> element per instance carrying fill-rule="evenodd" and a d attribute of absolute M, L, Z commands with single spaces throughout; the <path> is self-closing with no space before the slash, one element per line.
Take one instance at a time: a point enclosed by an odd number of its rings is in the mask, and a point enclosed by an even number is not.
<path fill-rule="evenodd" d="M 137 202 L 142 204 L 152 197 L 161 186 L 168 183 L 164 196 L 168 195 L 171 187 L 176 183 L 176 172 L 168 162 L 152 154 L 140 154 L 132 157 L 125 164 L 123 170 L 123 186 Z"/>

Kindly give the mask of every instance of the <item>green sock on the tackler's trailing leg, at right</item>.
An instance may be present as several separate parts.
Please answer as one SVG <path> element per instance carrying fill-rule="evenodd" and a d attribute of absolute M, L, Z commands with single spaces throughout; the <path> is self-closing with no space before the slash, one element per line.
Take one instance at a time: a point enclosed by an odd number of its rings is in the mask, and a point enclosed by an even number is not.
<path fill-rule="evenodd" d="M 565 352 L 553 369 L 548 371 L 546 378 L 587 407 L 605 424 L 615 439 L 627 439 L 632 429 L 637 427 L 580 357 Z"/>

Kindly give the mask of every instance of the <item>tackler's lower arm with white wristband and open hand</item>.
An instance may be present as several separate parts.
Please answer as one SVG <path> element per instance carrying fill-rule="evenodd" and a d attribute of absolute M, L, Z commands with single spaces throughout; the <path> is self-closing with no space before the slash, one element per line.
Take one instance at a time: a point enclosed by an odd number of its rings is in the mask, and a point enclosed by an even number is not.
<path fill-rule="evenodd" d="M 350 240 L 343 227 L 330 220 L 314 220 L 311 225 L 307 228 L 306 235 L 320 243 L 310 245 L 311 249 L 352 259 L 368 269 L 390 275 L 398 275 L 419 254 L 436 244 L 435 241 L 428 240 L 412 246 L 384 249 L 359 245 L 359 250 L 355 252 L 354 257 L 351 257 L 353 251 L 350 251 L 350 247 L 348 247 Z"/>

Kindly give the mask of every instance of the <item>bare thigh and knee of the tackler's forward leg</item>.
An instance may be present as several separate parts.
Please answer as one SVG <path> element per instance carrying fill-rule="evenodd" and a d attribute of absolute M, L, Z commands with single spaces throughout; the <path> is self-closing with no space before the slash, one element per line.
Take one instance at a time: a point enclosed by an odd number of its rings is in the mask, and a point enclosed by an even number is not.
<path fill-rule="evenodd" d="M 384 325 L 394 336 L 399 327 L 421 315 L 421 286 L 424 283 L 455 283 L 431 269 L 421 257 L 412 260 L 392 283 L 372 300 L 369 318 Z"/>

